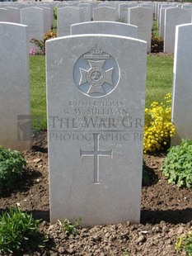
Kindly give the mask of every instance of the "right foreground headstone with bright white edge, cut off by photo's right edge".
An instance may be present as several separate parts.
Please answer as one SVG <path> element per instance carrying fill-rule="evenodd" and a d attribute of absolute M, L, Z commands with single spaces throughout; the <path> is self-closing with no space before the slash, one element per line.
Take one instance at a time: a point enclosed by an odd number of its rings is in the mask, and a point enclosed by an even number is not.
<path fill-rule="evenodd" d="M 174 83 L 172 93 L 172 122 L 176 135 L 172 145 L 179 145 L 181 139 L 192 140 L 192 24 L 176 26 L 176 47 L 174 54 Z"/>

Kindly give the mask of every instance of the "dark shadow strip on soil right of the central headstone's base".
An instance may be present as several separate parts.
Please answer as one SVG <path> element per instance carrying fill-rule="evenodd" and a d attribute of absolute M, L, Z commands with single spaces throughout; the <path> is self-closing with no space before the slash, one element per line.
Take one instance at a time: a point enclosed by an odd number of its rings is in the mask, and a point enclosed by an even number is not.
<path fill-rule="evenodd" d="M 192 208 L 182 210 L 142 210 L 141 223 L 159 224 L 162 220 L 170 224 L 188 223 L 192 220 Z"/>

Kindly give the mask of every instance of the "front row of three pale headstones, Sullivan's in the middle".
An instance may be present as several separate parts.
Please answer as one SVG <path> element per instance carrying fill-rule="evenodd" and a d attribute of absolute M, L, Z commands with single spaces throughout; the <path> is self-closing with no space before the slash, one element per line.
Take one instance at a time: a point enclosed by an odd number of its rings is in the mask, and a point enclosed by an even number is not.
<path fill-rule="evenodd" d="M 0 22 L 0 145 L 20 150 L 31 146 L 26 35 L 27 26 Z M 191 24 L 177 26 L 177 142 L 192 139 L 191 35 Z M 49 40 L 46 50 L 51 222 L 139 222 L 146 42 L 77 35 Z"/>

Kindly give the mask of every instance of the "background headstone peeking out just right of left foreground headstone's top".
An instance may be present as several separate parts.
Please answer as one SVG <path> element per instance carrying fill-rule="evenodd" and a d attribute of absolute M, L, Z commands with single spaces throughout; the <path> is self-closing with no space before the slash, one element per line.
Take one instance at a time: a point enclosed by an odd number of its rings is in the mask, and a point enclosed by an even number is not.
<path fill-rule="evenodd" d="M 40 51 L 35 44 L 30 43 L 30 40 L 44 39 L 44 11 L 37 7 L 21 9 L 21 24 L 28 26 L 29 50 L 33 48 L 36 51 Z"/>

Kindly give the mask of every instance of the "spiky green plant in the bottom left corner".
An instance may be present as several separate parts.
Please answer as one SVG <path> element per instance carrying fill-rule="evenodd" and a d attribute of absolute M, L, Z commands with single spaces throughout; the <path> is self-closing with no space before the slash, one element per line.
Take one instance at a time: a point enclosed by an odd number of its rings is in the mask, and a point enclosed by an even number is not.
<path fill-rule="evenodd" d="M 44 247 L 47 237 L 38 230 L 40 220 L 10 208 L 0 216 L 0 254 L 19 254 Z"/>

